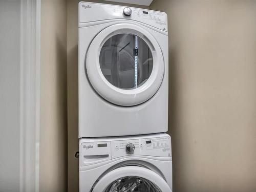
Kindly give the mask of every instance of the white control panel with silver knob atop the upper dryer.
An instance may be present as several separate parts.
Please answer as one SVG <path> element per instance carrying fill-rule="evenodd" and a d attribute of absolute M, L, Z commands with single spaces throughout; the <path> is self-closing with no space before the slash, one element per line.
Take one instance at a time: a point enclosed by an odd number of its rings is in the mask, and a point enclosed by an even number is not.
<path fill-rule="evenodd" d="M 164 12 L 90 2 L 79 3 L 80 24 L 108 19 L 136 20 L 160 30 L 168 31 L 167 14 Z"/>

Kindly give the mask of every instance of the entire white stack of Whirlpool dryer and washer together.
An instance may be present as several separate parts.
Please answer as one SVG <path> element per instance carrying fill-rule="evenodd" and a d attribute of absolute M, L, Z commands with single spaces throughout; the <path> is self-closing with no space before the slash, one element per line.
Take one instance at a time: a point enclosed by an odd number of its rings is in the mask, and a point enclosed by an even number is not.
<path fill-rule="evenodd" d="M 163 12 L 80 2 L 79 190 L 170 192 Z"/>

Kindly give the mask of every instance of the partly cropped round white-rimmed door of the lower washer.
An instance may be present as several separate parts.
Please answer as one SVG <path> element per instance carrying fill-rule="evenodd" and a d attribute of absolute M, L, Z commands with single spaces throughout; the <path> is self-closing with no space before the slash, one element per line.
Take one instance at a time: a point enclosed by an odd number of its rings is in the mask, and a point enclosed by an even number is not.
<path fill-rule="evenodd" d="M 150 169 L 125 166 L 104 175 L 92 192 L 172 192 L 165 180 Z"/>

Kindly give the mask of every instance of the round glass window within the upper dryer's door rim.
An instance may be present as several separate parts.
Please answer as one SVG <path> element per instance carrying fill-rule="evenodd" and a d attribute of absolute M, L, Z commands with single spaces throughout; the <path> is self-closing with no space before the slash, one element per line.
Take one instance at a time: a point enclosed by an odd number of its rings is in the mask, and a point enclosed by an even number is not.
<path fill-rule="evenodd" d="M 113 86 L 136 89 L 150 77 L 153 56 L 146 42 L 133 34 L 117 34 L 103 44 L 100 69 Z"/>

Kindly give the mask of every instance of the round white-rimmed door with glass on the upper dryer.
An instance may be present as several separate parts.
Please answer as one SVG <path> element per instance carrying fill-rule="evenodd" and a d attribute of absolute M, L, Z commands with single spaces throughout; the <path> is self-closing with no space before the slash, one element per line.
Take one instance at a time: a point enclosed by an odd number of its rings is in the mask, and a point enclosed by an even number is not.
<path fill-rule="evenodd" d="M 86 71 L 95 91 L 111 103 L 133 106 L 150 99 L 164 75 L 157 40 L 142 27 L 115 24 L 92 40 Z"/>

